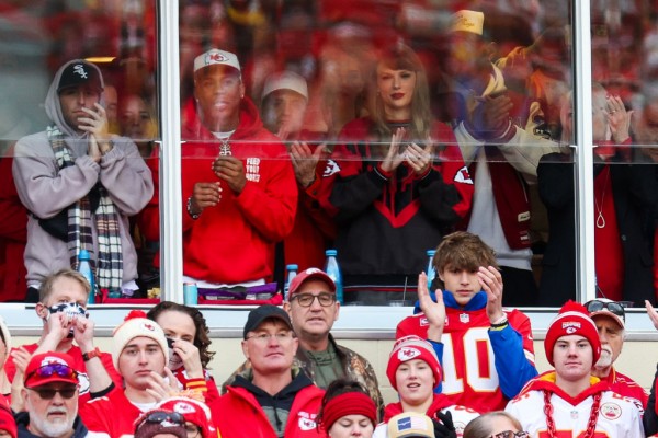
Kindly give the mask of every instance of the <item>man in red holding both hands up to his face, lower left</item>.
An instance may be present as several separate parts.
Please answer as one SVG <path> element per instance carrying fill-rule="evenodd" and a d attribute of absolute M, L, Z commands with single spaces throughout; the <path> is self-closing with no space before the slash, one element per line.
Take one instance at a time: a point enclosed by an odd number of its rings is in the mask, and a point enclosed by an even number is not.
<path fill-rule="evenodd" d="M 101 353 L 93 345 L 94 323 L 87 313 L 89 292 L 90 286 L 84 276 L 72 269 L 61 269 L 44 278 L 35 307 L 36 314 L 44 324 L 42 335 L 35 344 L 20 347 L 25 355 L 45 351 L 69 355 L 73 359 L 73 368 L 79 371 L 80 404 L 90 399 L 90 392 L 101 391 L 110 384 L 110 380 L 98 381 L 99 385 L 91 384 L 88 377 L 90 368 L 106 370 L 116 385 L 121 385 L 123 381 L 112 365 L 112 356 Z M 7 378 L 13 381 L 16 376 L 13 355 L 9 356 L 4 371 Z M 18 378 L 22 379 L 21 376 Z"/>

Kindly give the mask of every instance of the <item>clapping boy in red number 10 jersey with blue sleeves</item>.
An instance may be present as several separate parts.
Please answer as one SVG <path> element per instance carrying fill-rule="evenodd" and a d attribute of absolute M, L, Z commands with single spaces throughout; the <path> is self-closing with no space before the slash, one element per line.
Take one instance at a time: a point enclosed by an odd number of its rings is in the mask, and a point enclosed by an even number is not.
<path fill-rule="evenodd" d="M 443 366 L 440 391 L 477 412 L 501 410 L 537 376 L 530 320 L 502 309 L 502 278 L 494 251 L 477 235 L 446 235 L 433 260 L 442 289 L 418 281 L 415 314 L 396 338 L 417 335 L 432 343 Z M 445 350 L 445 353 L 444 353 Z"/>

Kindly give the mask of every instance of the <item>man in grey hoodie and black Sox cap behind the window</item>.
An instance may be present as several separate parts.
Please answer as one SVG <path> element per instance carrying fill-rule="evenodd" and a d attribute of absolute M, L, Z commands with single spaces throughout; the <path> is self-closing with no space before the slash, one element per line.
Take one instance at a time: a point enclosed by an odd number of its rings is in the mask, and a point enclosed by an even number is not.
<path fill-rule="evenodd" d="M 77 269 L 81 250 L 92 254 L 100 289 L 138 289 L 128 217 L 146 206 L 154 185 L 135 143 L 110 134 L 103 87 L 93 64 L 66 62 L 46 96 L 50 124 L 15 146 L 12 173 L 30 211 L 24 262 L 33 295 L 49 274 Z"/>

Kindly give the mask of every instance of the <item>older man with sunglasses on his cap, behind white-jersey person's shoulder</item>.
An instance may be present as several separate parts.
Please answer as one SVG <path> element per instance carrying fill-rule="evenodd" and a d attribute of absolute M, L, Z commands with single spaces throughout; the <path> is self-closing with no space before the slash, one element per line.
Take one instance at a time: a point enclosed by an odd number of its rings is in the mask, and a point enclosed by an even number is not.
<path fill-rule="evenodd" d="M 613 367 L 622 353 L 626 337 L 624 308 L 619 302 L 606 298 L 588 301 L 585 307 L 597 325 L 601 341 L 601 357 L 592 368 L 592 376 L 608 381 L 612 391 L 632 399 L 644 411 L 649 394 L 633 379 Z"/>

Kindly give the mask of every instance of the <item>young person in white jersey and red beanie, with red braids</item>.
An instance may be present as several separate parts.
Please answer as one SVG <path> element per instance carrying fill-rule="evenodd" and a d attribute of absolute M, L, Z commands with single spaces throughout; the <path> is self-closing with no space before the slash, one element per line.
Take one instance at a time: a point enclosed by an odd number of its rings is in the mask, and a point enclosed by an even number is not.
<path fill-rule="evenodd" d="M 555 370 L 531 380 L 506 407 L 523 430 L 532 437 L 645 436 L 642 408 L 591 376 L 601 342 L 582 304 L 563 306 L 546 331 L 544 348 Z"/>

